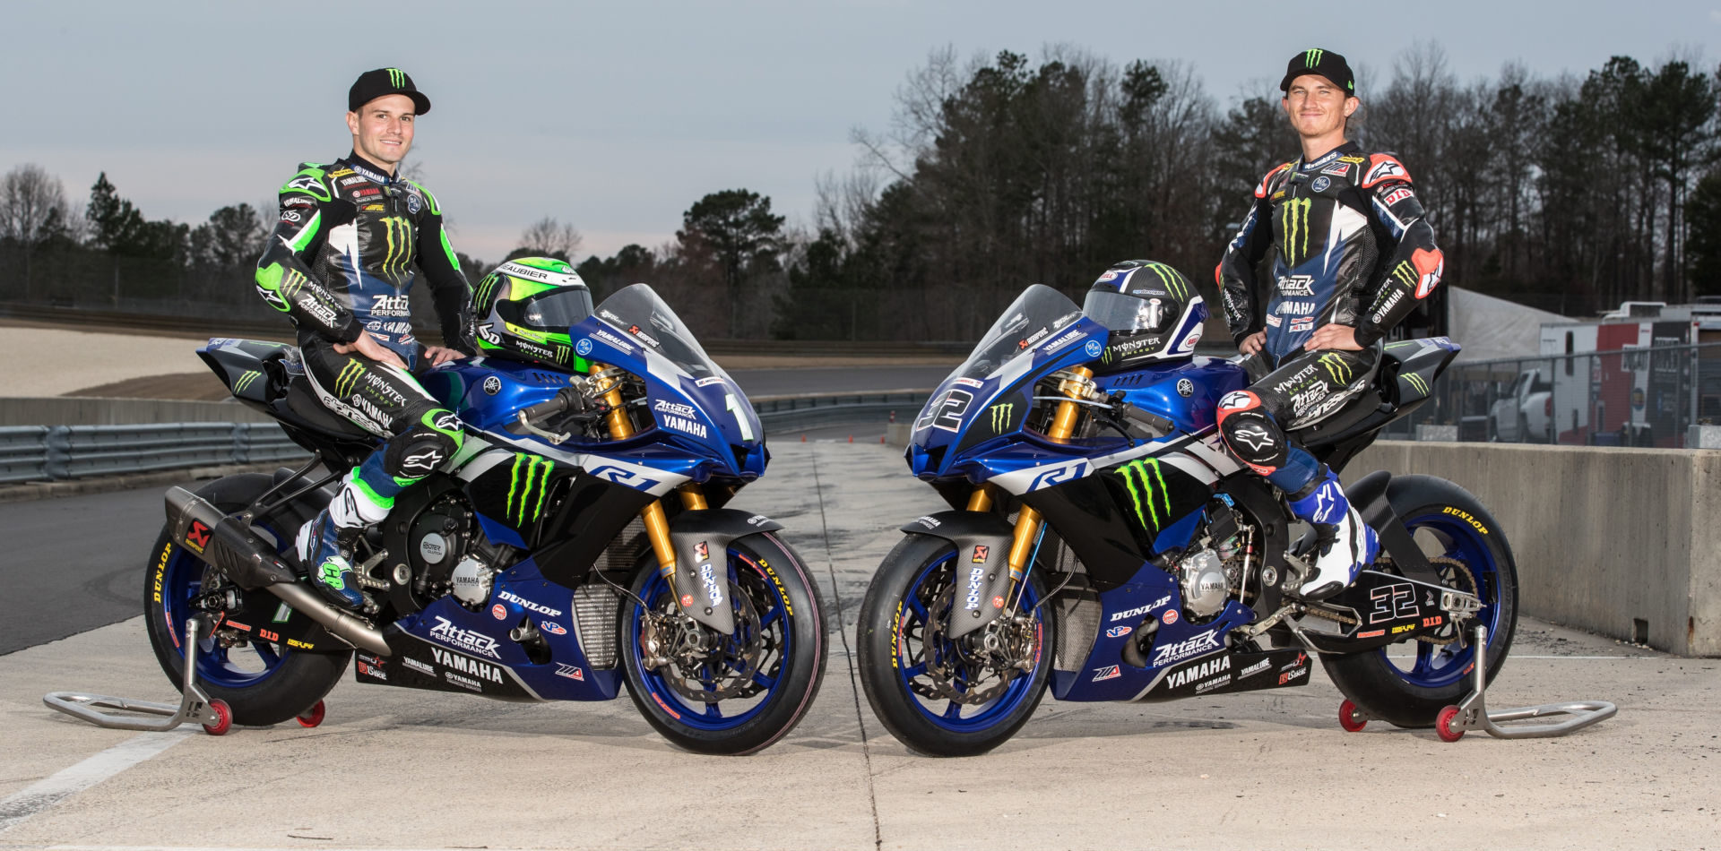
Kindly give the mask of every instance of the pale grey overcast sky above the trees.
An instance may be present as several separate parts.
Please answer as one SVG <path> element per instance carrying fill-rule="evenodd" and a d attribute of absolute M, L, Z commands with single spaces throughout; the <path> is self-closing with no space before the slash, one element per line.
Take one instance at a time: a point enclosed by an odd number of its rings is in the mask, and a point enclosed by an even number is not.
<path fill-rule="evenodd" d="M 1721 58 L 1716 0 L 9 0 L 0 21 L 0 170 L 40 163 L 77 205 L 107 170 L 151 218 L 274 203 L 299 160 L 349 150 L 353 77 L 403 67 L 434 101 L 413 158 L 456 248 L 490 261 L 544 215 L 575 223 L 587 253 L 656 248 L 730 187 L 805 222 L 816 177 L 855 160 L 850 131 L 886 129 L 895 89 L 941 46 L 1179 60 L 1220 107 L 1275 93 L 1308 46 L 1385 76 L 1432 40 L 1465 81 L 1504 62 L 1554 76 L 1616 53 Z"/>

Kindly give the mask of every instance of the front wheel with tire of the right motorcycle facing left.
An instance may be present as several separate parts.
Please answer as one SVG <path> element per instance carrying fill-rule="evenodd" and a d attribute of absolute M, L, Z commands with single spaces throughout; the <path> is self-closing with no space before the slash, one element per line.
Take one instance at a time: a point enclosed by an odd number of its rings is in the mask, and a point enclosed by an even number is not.
<path fill-rule="evenodd" d="M 867 703 L 897 741 L 928 756 L 974 756 L 1009 741 L 1045 696 L 1050 648 L 1057 646 L 1058 610 L 1038 605 L 1045 600 L 1039 569 L 1029 572 L 1014 607 L 1034 612 L 1031 648 L 1024 655 L 1033 660 L 1027 672 L 986 667 L 978 658 L 976 640 L 984 628 L 955 641 L 941 638 L 941 624 L 948 624 L 952 612 L 947 597 L 955 583 L 955 560 L 950 542 L 909 535 L 879 564 L 860 603 L 857 662 Z M 952 662 L 957 672 L 948 679 L 929 674 L 929 664 L 938 660 Z M 974 689 L 998 691 L 976 703 L 940 696 L 965 696 Z"/>

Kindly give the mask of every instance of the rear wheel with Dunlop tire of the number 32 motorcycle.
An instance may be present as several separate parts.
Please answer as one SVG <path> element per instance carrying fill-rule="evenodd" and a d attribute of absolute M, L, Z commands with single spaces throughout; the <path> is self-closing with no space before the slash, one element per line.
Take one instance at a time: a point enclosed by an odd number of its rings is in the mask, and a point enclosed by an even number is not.
<path fill-rule="evenodd" d="M 1470 492 L 1434 476 L 1396 476 L 1387 487 L 1387 500 L 1425 554 L 1463 566 L 1463 571 L 1444 571 L 1449 585 L 1468 591 L 1470 579 L 1475 581 L 1482 600 L 1477 621 L 1489 628 L 1487 681 L 1492 683 L 1518 628 L 1518 567 L 1499 523 Z M 1466 633 L 1477 621 L 1466 624 Z M 1415 658 L 1403 657 L 1404 646 L 1416 648 Z M 1322 657 L 1322 665 L 1339 691 L 1368 715 L 1397 727 L 1432 727 L 1442 708 L 1470 695 L 1475 657 L 1470 643 L 1413 640 Z"/>

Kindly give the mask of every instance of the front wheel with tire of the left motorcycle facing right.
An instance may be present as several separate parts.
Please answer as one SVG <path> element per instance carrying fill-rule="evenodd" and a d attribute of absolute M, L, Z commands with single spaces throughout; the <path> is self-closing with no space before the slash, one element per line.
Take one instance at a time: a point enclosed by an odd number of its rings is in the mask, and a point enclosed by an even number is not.
<path fill-rule="evenodd" d="M 663 738 L 695 753 L 745 755 L 769 748 L 800 724 L 824 681 L 819 590 L 795 552 L 773 533 L 737 538 L 728 547 L 728 578 L 737 629 L 733 636 L 718 636 L 725 645 L 718 664 L 688 667 L 669 660 L 647 670 L 640 662 L 645 610 L 630 600 L 618 624 L 628 696 Z M 652 612 L 676 610 L 669 583 L 659 576 L 649 550 L 632 591 Z M 747 597 L 745 603 L 738 595 Z M 757 655 L 747 662 L 750 653 Z M 697 698 L 718 688 L 737 695 L 709 703 Z"/>

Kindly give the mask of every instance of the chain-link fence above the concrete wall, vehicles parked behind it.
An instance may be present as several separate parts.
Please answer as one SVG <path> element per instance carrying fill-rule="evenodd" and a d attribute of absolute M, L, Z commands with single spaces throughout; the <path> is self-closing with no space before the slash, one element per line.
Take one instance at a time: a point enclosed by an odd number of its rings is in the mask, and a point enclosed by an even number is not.
<path fill-rule="evenodd" d="M 1454 364 L 1384 437 L 1683 449 L 1721 425 L 1721 344 Z"/>

